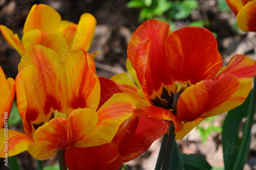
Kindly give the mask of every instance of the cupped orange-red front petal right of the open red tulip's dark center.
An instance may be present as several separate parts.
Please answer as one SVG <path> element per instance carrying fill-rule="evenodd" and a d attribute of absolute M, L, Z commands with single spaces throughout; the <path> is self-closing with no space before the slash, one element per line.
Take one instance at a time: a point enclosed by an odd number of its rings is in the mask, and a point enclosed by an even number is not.
<path fill-rule="evenodd" d="M 178 119 L 181 122 L 191 122 L 195 120 L 203 113 L 219 107 L 228 100 L 238 88 L 238 78 L 229 74 L 223 74 L 213 80 L 204 80 L 188 87 L 178 100 Z M 220 113 L 222 112 L 218 114 Z M 206 117 L 206 115 L 202 117 Z"/>

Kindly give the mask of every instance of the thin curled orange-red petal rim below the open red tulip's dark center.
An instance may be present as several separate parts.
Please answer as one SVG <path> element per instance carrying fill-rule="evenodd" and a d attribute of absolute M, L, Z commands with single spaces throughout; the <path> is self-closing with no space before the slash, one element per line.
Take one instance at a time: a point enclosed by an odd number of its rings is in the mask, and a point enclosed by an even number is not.
<path fill-rule="evenodd" d="M 179 120 L 175 117 L 175 115 L 166 109 L 155 107 L 155 106 L 147 106 L 147 107 L 136 109 L 136 112 L 139 112 L 140 110 L 146 113 L 148 117 L 172 121 L 175 126 L 175 133 L 178 133 L 183 128 L 183 126 L 181 125 Z"/>

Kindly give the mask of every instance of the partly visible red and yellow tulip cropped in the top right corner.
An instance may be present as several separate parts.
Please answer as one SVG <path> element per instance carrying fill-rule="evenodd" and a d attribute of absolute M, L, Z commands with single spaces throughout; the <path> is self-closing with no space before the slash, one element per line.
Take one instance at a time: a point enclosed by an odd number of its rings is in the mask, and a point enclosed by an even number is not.
<path fill-rule="evenodd" d="M 237 16 L 238 27 L 245 32 L 256 32 L 256 1 L 226 0 L 226 2 Z"/>

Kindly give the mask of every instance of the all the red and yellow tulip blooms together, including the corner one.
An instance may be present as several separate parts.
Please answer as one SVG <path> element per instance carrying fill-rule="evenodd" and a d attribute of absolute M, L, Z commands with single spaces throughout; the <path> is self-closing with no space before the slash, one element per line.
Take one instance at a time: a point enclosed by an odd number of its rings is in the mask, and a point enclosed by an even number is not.
<path fill-rule="evenodd" d="M 255 8 L 256 1 L 234 2 L 228 1 L 239 26 L 256 31 L 255 10 L 252 21 L 243 19 L 243 10 Z M 15 94 L 24 127 L 0 138 L 1 157 L 28 151 L 45 160 L 59 152 L 70 170 L 119 169 L 164 134 L 182 139 L 204 118 L 241 105 L 252 88 L 255 61 L 237 54 L 223 67 L 209 30 L 172 33 L 156 19 L 133 33 L 127 72 L 98 77 L 97 53 L 87 52 L 95 27 L 89 13 L 75 24 L 43 4 L 31 8 L 21 40 L 0 26 L 22 56 L 15 80 L 6 79 L 0 67 L 0 134 L 6 133 Z"/>

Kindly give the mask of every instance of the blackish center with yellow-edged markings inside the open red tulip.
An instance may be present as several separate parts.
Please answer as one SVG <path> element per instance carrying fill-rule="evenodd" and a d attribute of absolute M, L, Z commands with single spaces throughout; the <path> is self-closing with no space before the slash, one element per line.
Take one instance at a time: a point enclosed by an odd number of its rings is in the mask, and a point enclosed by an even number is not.
<path fill-rule="evenodd" d="M 175 82 L 175 91 L 166 90 L 163 88 L 161 98 L 157 96 L 154 100 L 151 100 L 155 106 L 164 108 L 166 110 L 171 111 L 173 114 L 177 116 L 177 104 L 180 98 L 181 93 L 187 89 L 188 84 L 184 85 L 179 82 Z"/>

